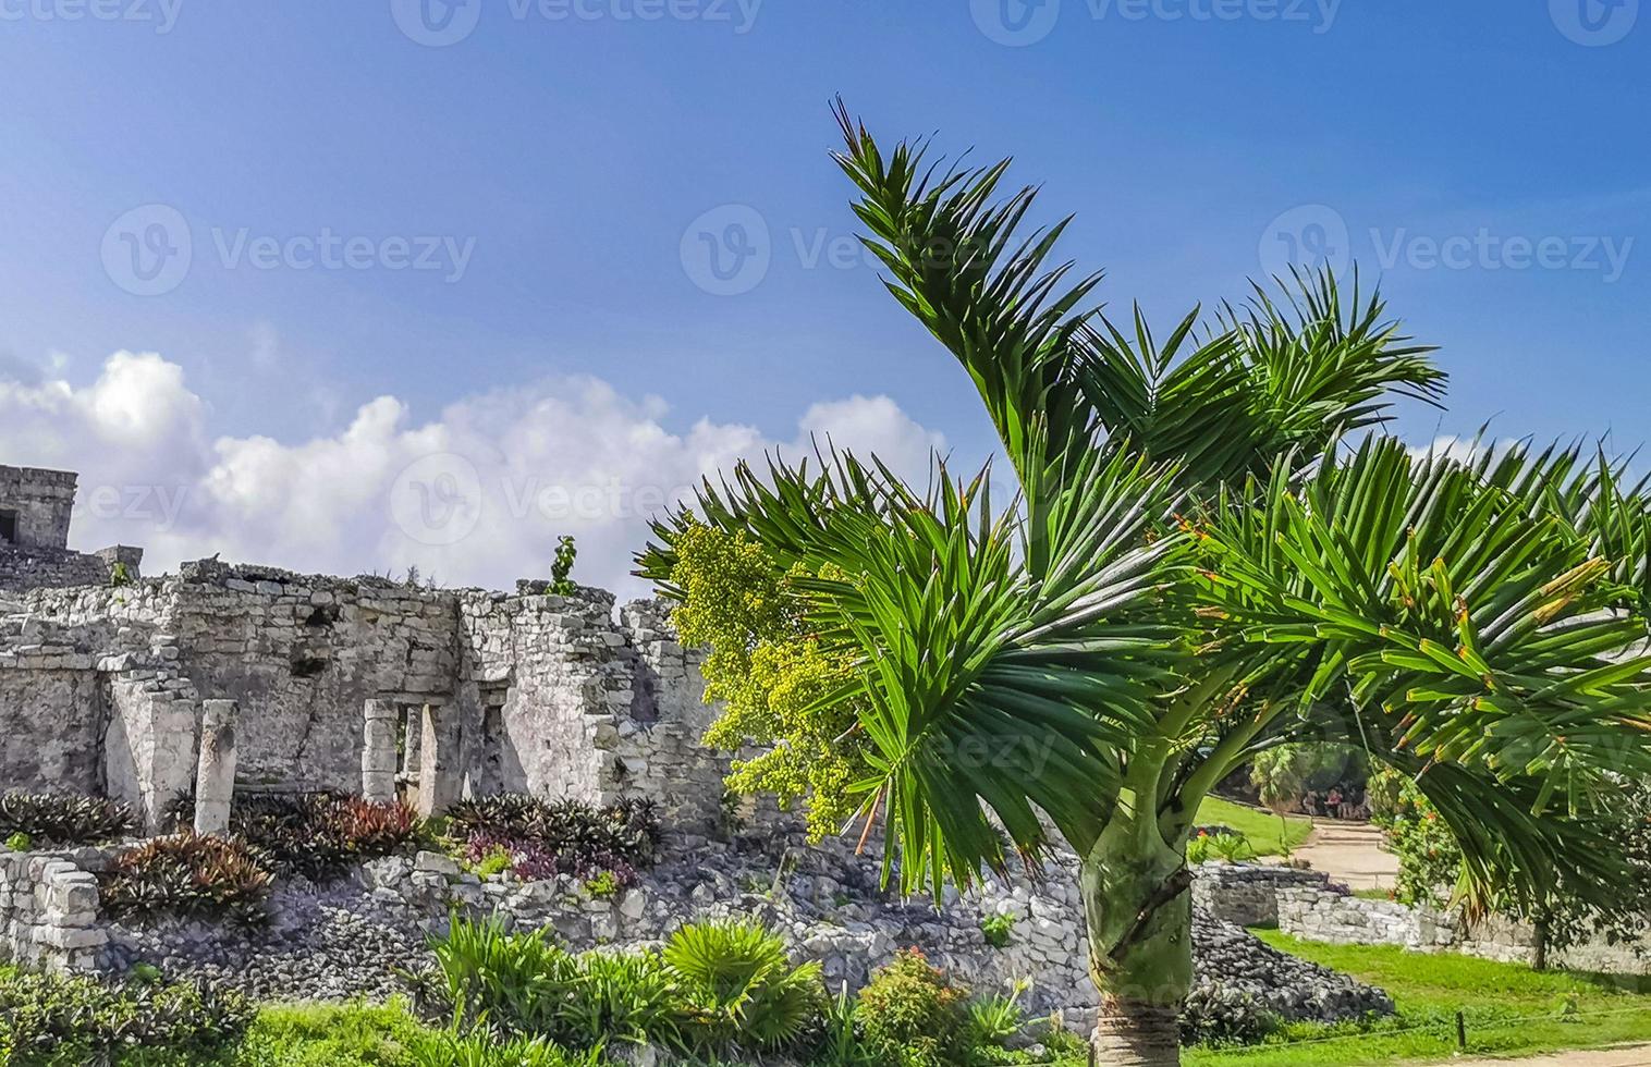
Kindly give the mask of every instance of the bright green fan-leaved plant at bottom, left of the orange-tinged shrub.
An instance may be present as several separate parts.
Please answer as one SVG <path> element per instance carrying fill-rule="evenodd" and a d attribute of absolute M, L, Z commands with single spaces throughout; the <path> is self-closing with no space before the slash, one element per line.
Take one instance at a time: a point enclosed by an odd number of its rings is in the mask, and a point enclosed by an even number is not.
<path fill-rule="evenodd" d="M 690 923 L 670 935 L 664 956 L 702 1047 L 789 1046 L 822 1014 L 821 965 L 794 966 L 786 943 L 756 923 Z"/>

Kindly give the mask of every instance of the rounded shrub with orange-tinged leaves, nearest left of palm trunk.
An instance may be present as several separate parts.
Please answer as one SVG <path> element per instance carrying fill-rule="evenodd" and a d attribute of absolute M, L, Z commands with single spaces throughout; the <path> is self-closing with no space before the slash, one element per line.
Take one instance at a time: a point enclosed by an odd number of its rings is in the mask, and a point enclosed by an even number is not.
<path fill-rule="evenodd" d="M 967 989 L 908 948 L 860 989 L 857 1019 L 867 1042 L 900 1067 L 969 1062 Z"/>

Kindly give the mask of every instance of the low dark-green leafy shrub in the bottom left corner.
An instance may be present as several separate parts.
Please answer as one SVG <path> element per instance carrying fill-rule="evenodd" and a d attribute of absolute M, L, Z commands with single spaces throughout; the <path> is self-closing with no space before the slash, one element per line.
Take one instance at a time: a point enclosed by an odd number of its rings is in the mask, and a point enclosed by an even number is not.
<path fill-rule="evenodd" d="M 140 1049 L 203 1055 L 238 1041 L 254 1014 L 246 998 L 205 984 L 0 976 L 0 1050 L 8 1052 L 0 1062 L 96 1064 Z"/>

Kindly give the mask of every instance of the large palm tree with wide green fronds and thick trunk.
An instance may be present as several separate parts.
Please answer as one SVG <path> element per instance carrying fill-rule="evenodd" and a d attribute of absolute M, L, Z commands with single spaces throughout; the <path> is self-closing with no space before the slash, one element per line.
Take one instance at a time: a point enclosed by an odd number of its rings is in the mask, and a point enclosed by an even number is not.
<path fill-rule="evenodd" d="M 1412 454 L 1395 396 L 1428 350 L 1354 282 L 1298 277 L 1157 340 L 1047 266 L 1007 160 L 883 154 L 839 104 L 837 164 L 887 286 L 976 383 L 1019 494 L 926 489 L 875 459 L 741 464 L 655 524 L 667 593 L 688 524 L 743 532 L 849 652 L 855 788 L 906 890 L 1076 851 L 1100 1062 L 1176 1064 L 1192 978 L 1185 842 L 1210 788 L 1278 745 L 1352 738 L 1413 775 L 1461 841 L 1461 899 L 1621 877 L 1588 814 L 1651 770 L 1651 519 L 1578 449 Z M 801 565 L 801 567 L 799 567 Z M 896 857 L 896 862 L 895 859 Z M 1504 897 L 1506 899 L 1506 897 Z"/>

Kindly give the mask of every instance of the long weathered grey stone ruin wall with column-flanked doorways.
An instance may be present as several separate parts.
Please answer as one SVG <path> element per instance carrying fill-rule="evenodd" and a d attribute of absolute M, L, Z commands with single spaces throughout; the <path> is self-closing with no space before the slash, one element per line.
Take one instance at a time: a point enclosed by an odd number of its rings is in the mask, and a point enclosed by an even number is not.
<path fill-rule="evenodd" d="M 398 709 L 398 780 L 414 796 L 421 717 L 436 715 L 449 798 L 632 793 L 707 826 L 726 761 L 698 745 L 700 694 L 662 606 L 616 618 L 598 590 L 512 596 L 201 562 L 122 588 L 0 595 L 0 788 L 106 793 L 152 826 L 193 785 L 206 699 L 239 705 L 244 788 L 360 791 L 375 700 Z"/>

